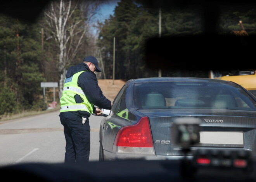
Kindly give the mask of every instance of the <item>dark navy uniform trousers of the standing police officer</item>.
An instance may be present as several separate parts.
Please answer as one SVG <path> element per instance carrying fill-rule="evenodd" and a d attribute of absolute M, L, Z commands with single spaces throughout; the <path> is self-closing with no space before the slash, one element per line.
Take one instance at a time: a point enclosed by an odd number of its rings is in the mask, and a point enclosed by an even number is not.
<path fill-rule="evenodd" d="M 89 161 L 90 155 L 90 125 L 88 117 L 82 124 L 82 117 L 78 112 L 61 112 L 61 124 L 64 126 L 66 139 L 65 163 L 84 163 Z M 85 117 L 85 116 L 84 116 Z"/>

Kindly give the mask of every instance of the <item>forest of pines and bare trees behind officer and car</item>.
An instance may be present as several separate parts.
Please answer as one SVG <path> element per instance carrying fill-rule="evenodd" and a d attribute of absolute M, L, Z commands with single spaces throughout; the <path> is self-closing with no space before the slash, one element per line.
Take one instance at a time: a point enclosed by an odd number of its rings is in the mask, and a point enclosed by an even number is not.
<path fill-rule="evenodd" d="M 106 1 L 55 0 L 35 23 L 0 14 L 0 115 L 46 110 L 48 103 L 42 99 L 40 83 L 58 82 L 59 99 L 66 70 L 85 56 L 99 60 L 103 71 L 97 73 L 98 79 L 158 77 L 159 69 L 149 68 L 145 63 L 145 42 L 149 37 L 204 32 L 200 11 L 153 9 L 140 0 L 121 0 L 113 15 L 95 24 L 93 17 L 102 3 Z M 255 34 L 253 7 L 223 11 L 218 19 L 218 34 L 243 31 L 240 20 L 249 36 Z M 207 77 L 207 74 L 166 69 L 161 76 Z"/>

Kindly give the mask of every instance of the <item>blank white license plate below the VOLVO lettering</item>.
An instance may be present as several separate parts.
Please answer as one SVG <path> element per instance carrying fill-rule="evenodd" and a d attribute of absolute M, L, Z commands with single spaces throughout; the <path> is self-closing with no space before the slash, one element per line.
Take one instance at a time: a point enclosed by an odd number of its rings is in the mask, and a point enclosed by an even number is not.
<path fill-rule="evenodd" d="M 201 131 L 199 146 L 243 147 L 243 132 Z"/>

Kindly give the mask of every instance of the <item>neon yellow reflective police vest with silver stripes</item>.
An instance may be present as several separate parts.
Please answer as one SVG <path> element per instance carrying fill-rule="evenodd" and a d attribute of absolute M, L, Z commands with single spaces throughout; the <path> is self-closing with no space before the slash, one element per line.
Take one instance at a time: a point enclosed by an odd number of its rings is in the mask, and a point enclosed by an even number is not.
<path fill-rule="evenodd" d="M 85 71 L 80 71 L 72 77 L 65 78 L 64 87 L 61 96 L 60 112 L 68 111 L 87 111 L 90 114 L 93 112 L 93 104 L 91 104 L 85 96 L 81 87 L 78 87 L 78 77 Z M 76 103 L 74 96 L 80 95 L 83 102 Z"/>

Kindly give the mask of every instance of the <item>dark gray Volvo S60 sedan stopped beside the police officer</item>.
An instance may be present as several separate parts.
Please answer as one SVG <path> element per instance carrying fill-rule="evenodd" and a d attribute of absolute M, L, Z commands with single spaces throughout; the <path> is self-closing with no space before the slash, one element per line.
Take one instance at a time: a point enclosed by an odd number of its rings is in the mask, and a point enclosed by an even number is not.
<path fill-rule="evenodd" d="M 184 153 L 174 125 L 195 121 L 199 141 Z M 255 129 L 256 97 L 234 82 L 134 79 L 121 88 L 101 121 L 100 160 L 181 158 L 202 149 L 249 151 L 255 157 Z"/>

